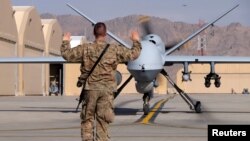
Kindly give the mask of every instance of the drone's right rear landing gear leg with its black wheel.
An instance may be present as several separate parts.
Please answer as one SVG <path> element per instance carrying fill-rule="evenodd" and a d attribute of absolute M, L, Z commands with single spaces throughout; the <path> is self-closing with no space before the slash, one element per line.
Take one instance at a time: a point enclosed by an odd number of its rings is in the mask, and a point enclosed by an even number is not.
<path fill-rule="evenodd" d="M 169 77 L 169 75 L 163 70 L 161 72 L 169 81 L 169 83 L 176 89 L 176 91 L 180 94 L 181 98 L 189 105 L 191 110 L 194 110 L 196 113 L 201 113 L 201 102 L 192 99 L 188 96 L 181 88 L 179 88 L 174 81 Z"/>

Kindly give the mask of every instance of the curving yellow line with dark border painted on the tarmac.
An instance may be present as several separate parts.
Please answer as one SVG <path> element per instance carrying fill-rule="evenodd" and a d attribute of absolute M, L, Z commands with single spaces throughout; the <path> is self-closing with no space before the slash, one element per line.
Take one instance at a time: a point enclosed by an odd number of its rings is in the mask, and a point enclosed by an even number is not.
<path fill-rule="evenodd" d="M 169 100 L 174 98 L 175 95 L 170 96 L 166 99 L 161 99 L 157 103 L 154 104 L 154 106 L 151 108 L 151 111 L 148 113 L 148 115 L 143 116 L 142 118 L 139 119 L 139 123 L 141 124 L 149 124 L 152 123 L 153 120 L 156 118 L 156 116 L 159 113 L 159 110 L 163 107 L 163 105 Z"/>

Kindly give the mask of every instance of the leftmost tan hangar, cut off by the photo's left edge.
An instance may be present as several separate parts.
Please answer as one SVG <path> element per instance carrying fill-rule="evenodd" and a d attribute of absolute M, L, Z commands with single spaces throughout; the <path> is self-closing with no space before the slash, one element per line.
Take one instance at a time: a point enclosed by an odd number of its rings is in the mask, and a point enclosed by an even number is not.
<path fill-rule="evenodd" d="M 14 57 L 17 56 L 18 34 L 14 12 L 10 1 L 2 0 L 0 2 L 0 56 Z M 16 90 L 16 68 L 15 64 L 0 64 L 0 94 L 15 95 Z M 4 86 L 4 87 L 2 87 Z"/>

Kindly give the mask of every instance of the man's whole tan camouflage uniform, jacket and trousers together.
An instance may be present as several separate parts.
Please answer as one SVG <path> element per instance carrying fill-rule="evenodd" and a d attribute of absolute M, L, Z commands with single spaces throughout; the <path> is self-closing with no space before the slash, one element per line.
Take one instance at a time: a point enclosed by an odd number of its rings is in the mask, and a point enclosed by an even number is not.
<path fill-rule="evenodd" d="M 61 53 L 69 62 L 81 62 L 81 77 L 86 80 L 89 71 L 106 47 L 106 42 L 95 41 L 70 49 L 69 41 L 63 41 Z M 115 72 L 119 63 L 136 59 L 141 51 L 140 42 L 133 42 L 131 49 L 110 44 L 108 50 L 86 80 L 81 112 L 83 141 L 93 140 L 94 116 L 96 115 L 97 140 L 108 141 L 108 124 L 114 120 L 113 92 L 116 91 Z"/>

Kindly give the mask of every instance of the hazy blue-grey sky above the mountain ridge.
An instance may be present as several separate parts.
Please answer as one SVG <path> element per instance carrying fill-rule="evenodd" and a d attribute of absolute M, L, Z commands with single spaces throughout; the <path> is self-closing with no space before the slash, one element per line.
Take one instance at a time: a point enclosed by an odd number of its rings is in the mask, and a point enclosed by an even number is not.
<path fill-rule="evenodd" d="M 66 3 L 70 3 L 95 21 L 137 14 L 186 23 L 198 23 L 199 20 L 209 22 L 240 4 L 216 24 L 228 25 L 239 22 L 250 26 L 250 0 L 11 0 L 11 2 L 13 6 L 35 6 L 40 14 L 76 15 L 66 6 Z"/>

